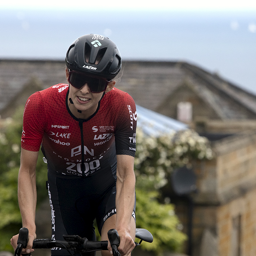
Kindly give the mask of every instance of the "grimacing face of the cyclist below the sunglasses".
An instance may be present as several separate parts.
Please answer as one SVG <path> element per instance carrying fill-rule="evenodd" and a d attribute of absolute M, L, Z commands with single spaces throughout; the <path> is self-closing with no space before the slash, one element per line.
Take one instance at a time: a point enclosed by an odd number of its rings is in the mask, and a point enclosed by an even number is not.
<path fill-rule="evenodd" d="M 66 76 L 67 76 L 67 70 L 66 70 Z M 112 81 L 111 83 L 109 83 L 105 92 L 108 93 L 110 90 L 112 90 L 115 83 L 116 83 L 115 81 Z M 92 93 L 87 83 L 85 83 L 80 89 L 77 89 L 72 85 L 69 85 L 68 97 L 71 98 L 74 103 L 74 104 L 70 104 L 70 102 L 68 101 L 69 109 L 74 114 L 74 116 L 78 118 L 87 119 L 91 115 L 93 115 L 94 112 L 97 110 L 98 103 L 102 98 L 102 95 L 103 95 L 103 92 Z M 81 110 L 82 113 L 78 113 L 77 110 Z"/>

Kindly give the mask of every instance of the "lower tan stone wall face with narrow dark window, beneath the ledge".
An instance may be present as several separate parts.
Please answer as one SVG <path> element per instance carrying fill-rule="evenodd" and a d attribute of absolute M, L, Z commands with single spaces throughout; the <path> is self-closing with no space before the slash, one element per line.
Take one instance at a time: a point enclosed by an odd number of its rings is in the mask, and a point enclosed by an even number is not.
<path fill-rule="evenodd" d="M 219 206 L 219 256 L 256 255 L 256 189 Z"/>

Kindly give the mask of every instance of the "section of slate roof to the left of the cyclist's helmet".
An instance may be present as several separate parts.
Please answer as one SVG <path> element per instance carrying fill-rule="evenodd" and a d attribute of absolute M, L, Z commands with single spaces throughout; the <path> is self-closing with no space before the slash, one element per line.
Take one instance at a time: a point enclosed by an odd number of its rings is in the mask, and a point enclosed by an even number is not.
<path fill-rule="evenodd" d="M 63 83 L 64 67 L 64 61 L 0 60 L 0 114 L 3 116 L 5 107 L 22 93 L 31 80 L 37 80 L 35 91 L 39 85 L 45 89 Z"/>

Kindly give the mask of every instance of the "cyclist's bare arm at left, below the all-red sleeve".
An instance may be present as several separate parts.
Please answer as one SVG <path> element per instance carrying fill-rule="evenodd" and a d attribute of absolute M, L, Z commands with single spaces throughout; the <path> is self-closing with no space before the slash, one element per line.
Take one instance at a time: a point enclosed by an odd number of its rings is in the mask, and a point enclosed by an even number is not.
<path fill-rule="evenodd" d="M 35 207 L 37 204 L 37 189 L 35 182 L 35 169 L 38 152 L 28 151 L 22 148 L 20 156 L 20 169 L 18 177 L 18 200 L 22 225 L 29 230 L 29 242 L 26 252 L 31 250 L 35 234 Z M 11 244 L 14 249 L 17 246 L 18 235 L 12 237 Z M 25 250 L 23 249 L 23 252 Z"/>

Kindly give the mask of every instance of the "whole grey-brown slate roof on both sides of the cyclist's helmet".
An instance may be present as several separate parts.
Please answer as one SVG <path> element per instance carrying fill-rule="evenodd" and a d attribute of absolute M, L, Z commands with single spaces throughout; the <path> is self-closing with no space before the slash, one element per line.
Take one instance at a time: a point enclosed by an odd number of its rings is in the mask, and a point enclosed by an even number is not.
<path fill-rule="evenodd" d="M 0 60 L 0 114 L 23 89 L 37 80 L 42 89 L 65 81 L 65 62 L 54 60 Z M 116 87 L 127 91 L 137 105 L 159 112 L 184 83 L 218 118 L 256 119 L 256 96 L 233 83 L 186 62 L 123 61 Z M 29 95 L 27 95 L 29 97 Z"/>

